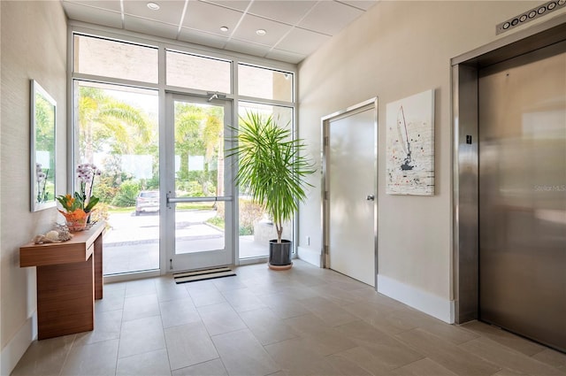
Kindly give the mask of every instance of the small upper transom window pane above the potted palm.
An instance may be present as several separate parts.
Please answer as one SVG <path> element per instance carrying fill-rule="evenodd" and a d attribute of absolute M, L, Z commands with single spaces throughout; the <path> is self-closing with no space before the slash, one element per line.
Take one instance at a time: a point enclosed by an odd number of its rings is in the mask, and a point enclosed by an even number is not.
<path fill-rule="evenodd" d="M 238 94 L 276 101 L 293 101 L 293 73 L 238 65 Z"/>

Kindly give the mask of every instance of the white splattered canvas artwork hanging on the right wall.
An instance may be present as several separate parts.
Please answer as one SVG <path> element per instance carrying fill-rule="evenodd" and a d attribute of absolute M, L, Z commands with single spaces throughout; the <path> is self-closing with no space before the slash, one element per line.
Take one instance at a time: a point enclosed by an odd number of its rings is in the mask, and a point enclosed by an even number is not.
<path fill-rule="evenodd" d="M 434 195 L 434 90 L 386 105 L 386 194 Z"/>

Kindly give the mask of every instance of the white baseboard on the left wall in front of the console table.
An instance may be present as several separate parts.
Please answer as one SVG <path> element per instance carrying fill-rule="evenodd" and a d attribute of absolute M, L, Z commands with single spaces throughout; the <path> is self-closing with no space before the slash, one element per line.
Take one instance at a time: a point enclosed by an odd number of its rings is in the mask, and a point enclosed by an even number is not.
<path fill-rule="evenodd" d="M 37 311 L 31 318 L 27 318 L 24 325 L 19 328 L 8 344 L 2 349 L 0 355 L 0 375 L 9 375 L 24 356 L 29 345 L 37 338 Z"/>

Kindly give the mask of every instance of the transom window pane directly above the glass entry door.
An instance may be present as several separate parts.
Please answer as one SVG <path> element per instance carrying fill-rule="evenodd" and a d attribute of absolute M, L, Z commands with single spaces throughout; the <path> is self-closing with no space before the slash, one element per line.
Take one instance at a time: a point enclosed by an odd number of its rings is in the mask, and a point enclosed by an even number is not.
<path fill-rule="evenodd" d="M 167 85 L 232 93 L 229 61 L 168 50 L 166 66 Z"/>

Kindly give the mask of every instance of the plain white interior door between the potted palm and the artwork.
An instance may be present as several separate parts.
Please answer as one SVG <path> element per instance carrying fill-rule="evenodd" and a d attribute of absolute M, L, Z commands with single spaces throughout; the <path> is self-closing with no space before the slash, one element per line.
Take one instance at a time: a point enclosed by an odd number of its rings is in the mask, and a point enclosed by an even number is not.
<path fill-rule="evenodd" d="M 376 280 L 375 101 L 326 122 L 328 265 L 368 285 Z"/>

